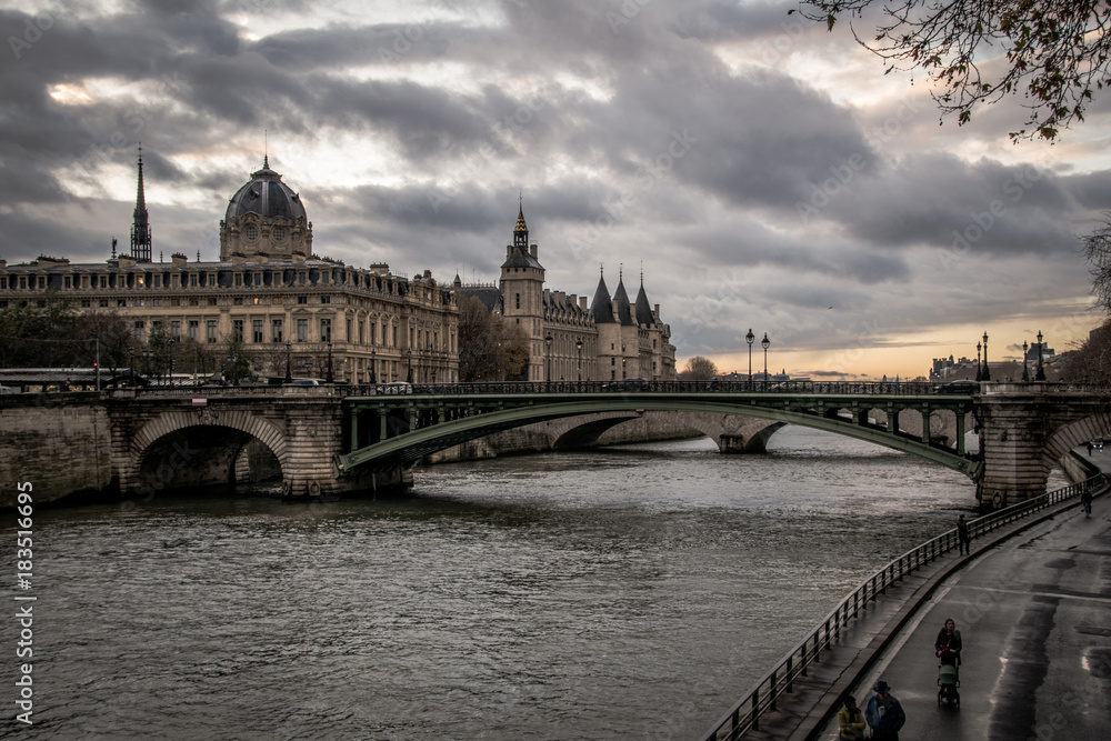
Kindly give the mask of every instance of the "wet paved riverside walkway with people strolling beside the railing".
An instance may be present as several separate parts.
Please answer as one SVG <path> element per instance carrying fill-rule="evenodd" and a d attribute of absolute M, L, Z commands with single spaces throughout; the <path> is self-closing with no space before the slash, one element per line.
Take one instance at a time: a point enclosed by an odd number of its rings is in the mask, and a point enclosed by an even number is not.
<path fill-rule="evenodd" d="M 1092 459 L 1111 470 L 1111 451 Z M 837 710 L 878 679 L 907 713 L 904 741 L 1085 741 L 1111 728 L 1111 497 L 1078 498 L 915 570 L 842 630 L 744 739 L 832 741 Z M 961 631 L 960 709 L 938 705 L 933 642 Z M 728 734 L 718 738 L 729 738 Z"/>

